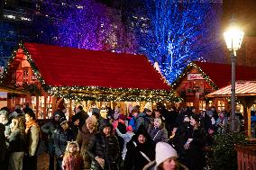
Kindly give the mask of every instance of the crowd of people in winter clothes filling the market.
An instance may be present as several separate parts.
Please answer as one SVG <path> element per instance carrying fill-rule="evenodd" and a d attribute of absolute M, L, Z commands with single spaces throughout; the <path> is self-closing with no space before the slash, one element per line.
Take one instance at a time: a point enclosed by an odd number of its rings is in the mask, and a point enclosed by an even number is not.
<path fill-rule="evenodd" d="M 70 120 L 66 111 L 59 107 L 40 127 L 28 104 L 13 112 L 2 108 L 0 170 L 37 169 L 42 135 L 47 136 L 50 170 L 201 170 L 214 134 L 230 130 L 228 113 L 215 107 L 196 112 L 159 105 L 140 112 L 137 105 L 127 116 L 116 107 L 107 109 L 105 119 L 100 109 L 85 112 L 79 105 Z M 236 130 L 241 130 L 239 121 Z"/>

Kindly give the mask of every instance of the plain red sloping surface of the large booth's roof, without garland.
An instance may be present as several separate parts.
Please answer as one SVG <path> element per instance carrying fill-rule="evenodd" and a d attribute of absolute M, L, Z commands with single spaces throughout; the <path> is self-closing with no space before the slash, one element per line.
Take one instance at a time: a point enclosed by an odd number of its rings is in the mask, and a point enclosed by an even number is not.
<path fill-rule="evenodd" d="M 46 85 L 170 90 L 142 55 L 24 43 Z"/>

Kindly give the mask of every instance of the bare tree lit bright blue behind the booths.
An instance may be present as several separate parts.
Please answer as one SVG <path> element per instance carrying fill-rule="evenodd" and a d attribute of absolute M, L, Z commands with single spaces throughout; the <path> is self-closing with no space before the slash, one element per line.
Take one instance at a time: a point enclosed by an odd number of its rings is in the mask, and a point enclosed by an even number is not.
<path fill-rule="evenodd" d="M 137 13 L 129 13 L 129 8 L 124 14 L 132 23 L 128 29 L 136 34 L 138 52 L 158 62 L 172 82 L 193 60 L 218 61 L 221 7 L 197 1 L 142 0 L 133 10 Z"/>

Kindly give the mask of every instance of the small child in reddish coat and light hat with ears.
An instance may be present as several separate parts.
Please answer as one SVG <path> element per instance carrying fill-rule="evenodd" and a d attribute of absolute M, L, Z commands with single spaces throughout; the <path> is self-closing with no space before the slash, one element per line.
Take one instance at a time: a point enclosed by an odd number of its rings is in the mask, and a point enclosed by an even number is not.
<path fill-rule="evenodd" d="M 77 141 L 68 142 L 62 161 L 63 170 L 80 170 L 83 167 L 83 158 L 79 154 Z"/>

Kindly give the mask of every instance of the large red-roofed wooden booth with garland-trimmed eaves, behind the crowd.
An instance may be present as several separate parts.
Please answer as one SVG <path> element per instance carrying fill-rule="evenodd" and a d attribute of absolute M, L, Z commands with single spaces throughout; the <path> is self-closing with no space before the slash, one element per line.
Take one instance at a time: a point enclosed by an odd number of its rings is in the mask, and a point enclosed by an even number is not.
<path fill-rule="evenodd" d="M 29 92 L 16 95 L 8 107 L 30 103 L 42 119 L 50 118 L 59 104 L 70 115 L 77 104 L 87 111 L 95 101 L 97 107 L 118 102 L 125 114 L 133 104 L 181 101 L 145 56 L 108 51 L 19 44 L 1 80 Z"/>

